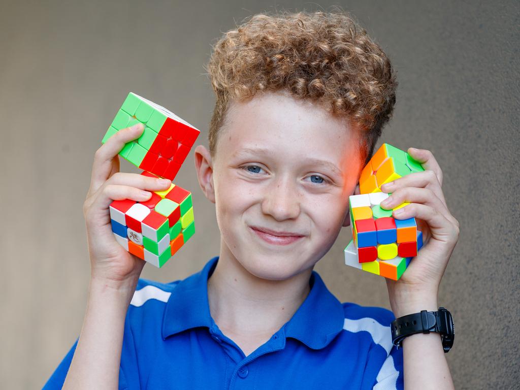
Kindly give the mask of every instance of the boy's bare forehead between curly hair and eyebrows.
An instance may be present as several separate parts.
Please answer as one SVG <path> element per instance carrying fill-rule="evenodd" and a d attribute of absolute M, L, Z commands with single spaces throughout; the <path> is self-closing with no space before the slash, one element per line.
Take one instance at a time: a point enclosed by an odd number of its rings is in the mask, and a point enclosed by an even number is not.
<path fill-rule="evenodd" d="M 222 142 L 220 142 L 222 141 Z M 359 156 L 357 132 L 316 104 L 287 93 L 267 93 L 231 102 L 219 136 L 228 156 L 259 153 L 302 154 L 340 161 Z"/>

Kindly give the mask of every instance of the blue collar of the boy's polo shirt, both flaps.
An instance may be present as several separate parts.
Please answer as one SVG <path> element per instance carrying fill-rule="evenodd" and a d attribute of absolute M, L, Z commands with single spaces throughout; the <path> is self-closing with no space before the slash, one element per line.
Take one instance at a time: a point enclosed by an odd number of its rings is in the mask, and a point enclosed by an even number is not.
<path fill-rule="evenodd" d="M 163 339 L 197 327 L 211 328 L 215 322 L 207 298 L 207 279 L 218 256 L 210 259 L 197 274 L 180 281 L 166 303 Z M 310 279 L 310 292 L 293 317 L 282 327 L 285 337 L 297 339 L 313 349 L 326 347 L 343 329 L 343 305 L 327 289 L 316 271 Z"/>

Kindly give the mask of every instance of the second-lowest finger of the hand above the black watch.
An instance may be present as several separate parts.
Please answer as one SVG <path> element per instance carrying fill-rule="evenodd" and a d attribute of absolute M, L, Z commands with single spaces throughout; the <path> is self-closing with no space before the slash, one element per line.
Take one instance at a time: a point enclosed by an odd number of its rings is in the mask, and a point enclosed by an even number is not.
<path fill-rule="evenodd" d="M 446 207 L 446 204 L 444 204 L 439 198 L 437 198 L 435 193 L 428 188 L 399 188 L 396 191 L 394 191 L 391 196 L 389 196 L 381 202 L 381 207 L 383 207 L 383 209 L 385 210 L 392 210 L 393 208 L 399 206 L 404 202 L 420 203 L 433 207 L 434 210 L 437 210 L 451 223 L 456 223 L 455 218 L 449 212 L 448 207 Z"/>

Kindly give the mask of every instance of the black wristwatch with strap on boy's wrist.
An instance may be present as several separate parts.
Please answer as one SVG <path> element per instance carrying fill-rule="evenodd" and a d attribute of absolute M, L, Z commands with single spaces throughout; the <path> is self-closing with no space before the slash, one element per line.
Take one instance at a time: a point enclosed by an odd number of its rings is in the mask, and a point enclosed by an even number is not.
<path fill-rule="evenodd" d="M 451 313 L 444 307 L 438 311 L 422 310 L 421 313 L 409 314 L 392 321 L 392 343 L 400 348 L 402 340 L 416 333 L 437 332 L 443 342 L 444 352 L 453 346 L 455 328 Z"/>

